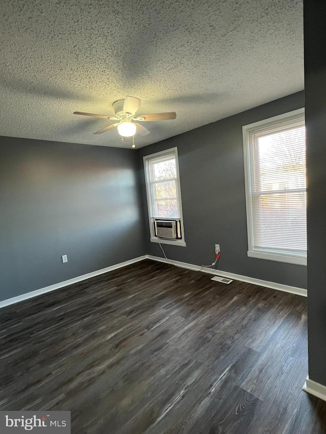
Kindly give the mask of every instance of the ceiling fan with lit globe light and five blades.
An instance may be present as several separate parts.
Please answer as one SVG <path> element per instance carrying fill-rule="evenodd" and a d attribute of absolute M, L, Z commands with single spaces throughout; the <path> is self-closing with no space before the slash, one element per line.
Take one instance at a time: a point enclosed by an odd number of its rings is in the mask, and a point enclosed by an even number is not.
<path fill-rule="evenodd" d="M 102 134 L 105 131 L 111 130 L 117 127 L 118 132 L 123 137 L 131 137 L 136 132 L 141 136 L 146 136 L 149 134 L 147 128 L 143 125 L 138 124 L 138 122 L 148 122 L 148 121 L 168 121 L 170 119 L 175 119 L 177 114 L 175 111 L 165 112 L 165 113 L 152 113 L 152 114 L 142 114 L 141 116 L 135 117 L 136 111 L 139 109 L 141 100 L 139 98 L 127 96 L 125 99 L 119 99 L 113 103 L 113 109 L 115 116 L 107 116 L 105 114 L 95 114 L 95 113 L 84 113 L 82 111 L 74 111 L 73 114 L 81 114 L 83 116 L 92 116 L 93 118 L 103 118 L 109 119 L 110 121 L 119 121 L 115 124 L 109 125 L 108 127 L 102 128 L 93 134 Z M 138 122 L 133 122 L 138 121 Z"/>

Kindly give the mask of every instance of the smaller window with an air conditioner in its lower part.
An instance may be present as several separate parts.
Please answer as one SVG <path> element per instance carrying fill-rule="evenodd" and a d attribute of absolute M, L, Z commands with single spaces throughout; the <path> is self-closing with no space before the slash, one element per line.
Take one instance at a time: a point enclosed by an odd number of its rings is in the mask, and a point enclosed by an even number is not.
<path fill-rule="evenodd" d="M 144 157 L 144 168 L 151 241 L 185 246 L 177 148 Z M 180 238 L 158 238 L 155 219 L 180 221 Z"/>

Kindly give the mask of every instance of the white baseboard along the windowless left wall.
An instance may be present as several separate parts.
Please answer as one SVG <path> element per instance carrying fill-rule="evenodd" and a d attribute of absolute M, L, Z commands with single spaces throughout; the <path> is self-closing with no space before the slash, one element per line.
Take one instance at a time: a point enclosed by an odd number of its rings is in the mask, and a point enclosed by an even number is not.
<path fill-rule="evenodd" d="M 49 293 L 50 291 L 59 290 L 64 286 L 71 285 L 73 283 L 80 282 L 82 280 L 89 279 L 90 277 L 98 276 L 99 274 L 107 273 L 108 271 L 113 271 L 121 267 L 125 267 L 130 264 L 134 264 L 135 262 L 143 261 L 147 258 L 147 255 L 139 256 L 133 259 L 129 259 L 129 261 L 121 262 L 120 264 L 111 265 L 110 267 L 102 268 L 101 270 L 92 271 L 91 273 L 83 274 L 82 276 L 73 277 L 72 279 L 65 280 L 64 282 L 55 283 L 54 285 L 45 286 L 44 288 L 40 288 L 39 290 L 32 291 L 30 293 L 25 293 L 17 297 L 9 298 L 4 301 L 0 301 L 0 308 L 9 306 L 10 304 L 18 303 L 23 300 L 28 300 L 29 298 L 37 297 L 41 294 Z"/>

